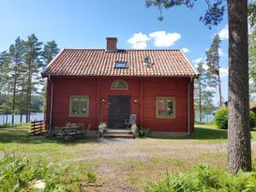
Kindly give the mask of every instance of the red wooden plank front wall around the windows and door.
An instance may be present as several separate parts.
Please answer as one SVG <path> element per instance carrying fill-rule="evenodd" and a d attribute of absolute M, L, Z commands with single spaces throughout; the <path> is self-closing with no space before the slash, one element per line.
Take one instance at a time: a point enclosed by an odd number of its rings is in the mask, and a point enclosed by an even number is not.
<path fill-rule="evenodd" d="M 111 90 L 114 80 L 128 82 L 128 90 Z M 53 126 L 71 123 L 91 124 L 98 129 L 99 117 L 108 123 L 108 96 L 131 96 L 131 112 L 137 114 L 137 124 L 151 131 L 188 132 L 188 82 L 189 78 L 102 78 L 102 77 L 52 77 Z M 51 81 L 47 87 L 47 115 L 49 125 Z M 69 96 L 89 96 L 89 117 L 69 117 Z M 156 97 L 175 96 L 176 117 L 156 118 Z M 102 98 L 105 102 L 102 103 Z M 134 102 L 135 98 L 137 103 Z M 190 86 L 190 130 L 194 129 L 193 83 Z"/>

